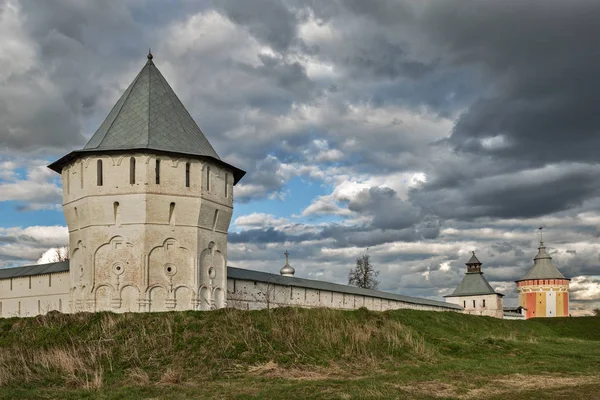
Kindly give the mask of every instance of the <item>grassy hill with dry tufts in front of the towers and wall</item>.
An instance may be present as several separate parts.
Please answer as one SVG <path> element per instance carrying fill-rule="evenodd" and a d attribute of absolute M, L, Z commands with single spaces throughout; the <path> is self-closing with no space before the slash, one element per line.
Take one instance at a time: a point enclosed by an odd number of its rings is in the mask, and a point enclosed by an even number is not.
<path fill-rule="evenodd" d="M 0 319 L 0 398 L 600 398 L 600 318 L 283 308 Z"/>

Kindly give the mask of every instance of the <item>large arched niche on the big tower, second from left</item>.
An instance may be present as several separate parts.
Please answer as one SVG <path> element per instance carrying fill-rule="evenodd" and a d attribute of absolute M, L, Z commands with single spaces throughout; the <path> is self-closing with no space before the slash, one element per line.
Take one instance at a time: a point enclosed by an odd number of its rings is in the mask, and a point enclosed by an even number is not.
<path fill-rule="evenodd" d="M 93 277 L 94 287 L 111 284 L 118 291 L 127 284 L 140 282 L 141 271 L 133 244 L 121 236 L 114 236 L 98 247 L 94 254 Z"/>

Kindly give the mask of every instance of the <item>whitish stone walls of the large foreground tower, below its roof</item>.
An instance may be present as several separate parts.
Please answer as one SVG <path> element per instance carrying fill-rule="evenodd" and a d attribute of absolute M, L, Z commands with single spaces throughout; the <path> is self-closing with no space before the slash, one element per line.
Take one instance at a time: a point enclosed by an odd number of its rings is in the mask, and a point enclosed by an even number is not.
<path fill-rule="evenodd" d="M 94 154 L 66 165 L 62 180 L 72 311 L 226 305 L 231 171 L 198 158 Z"/>

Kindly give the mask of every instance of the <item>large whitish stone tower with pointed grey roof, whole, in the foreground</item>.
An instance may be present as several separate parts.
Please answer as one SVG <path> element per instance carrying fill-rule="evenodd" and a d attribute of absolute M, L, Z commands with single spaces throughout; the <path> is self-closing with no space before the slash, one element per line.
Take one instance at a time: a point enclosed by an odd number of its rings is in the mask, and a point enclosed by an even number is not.
<path fill-rule="evenodd" d="M 148 54 L 62 176 L 71 311 L 226 305 L 227 230 L 244 171 L 222 161 Z"/>

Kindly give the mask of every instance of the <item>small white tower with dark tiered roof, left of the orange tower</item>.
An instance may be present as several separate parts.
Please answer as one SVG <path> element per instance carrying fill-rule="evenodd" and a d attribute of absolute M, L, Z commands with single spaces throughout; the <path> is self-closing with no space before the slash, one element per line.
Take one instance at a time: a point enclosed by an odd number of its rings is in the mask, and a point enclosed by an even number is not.
<path fill-rule="evenodd" d="M 444 296 L 446 301 L 462 306 L 468 314 L 503 318 L 504 295 L 497 293 L 485 279 L 481 271 L 482 264 L 474 251 L 466 265 L 465 276 L 452 294 Z"/>

